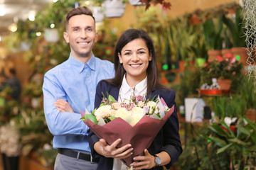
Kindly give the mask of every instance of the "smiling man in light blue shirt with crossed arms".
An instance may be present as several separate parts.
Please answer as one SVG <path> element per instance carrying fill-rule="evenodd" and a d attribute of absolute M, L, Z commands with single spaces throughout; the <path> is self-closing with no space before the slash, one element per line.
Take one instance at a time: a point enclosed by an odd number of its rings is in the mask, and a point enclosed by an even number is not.
<path fill-rule="evenodd" d="M 93 111 L 98 81 L 114 76 L 114 65 L 92 53 L 97 41 L 95 18 L 87 7 L 73 8 L 66 16 L 64 38 L 70 44 L 68 60 L 46 72 L 43 105 L 46 122 L 58 149 L 55 170 L 96 169 L 90 157 L 88 127 L 80 111 Z M 70 112 L 61 112 L 55 101 L 69 103 Z M 74 112 L 74 113 L 73 113 Z"/>

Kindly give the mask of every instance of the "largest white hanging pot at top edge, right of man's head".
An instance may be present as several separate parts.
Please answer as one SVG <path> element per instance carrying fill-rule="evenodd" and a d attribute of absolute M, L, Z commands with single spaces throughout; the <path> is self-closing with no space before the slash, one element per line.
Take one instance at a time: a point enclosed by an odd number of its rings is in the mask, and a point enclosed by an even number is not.
<path fill-rule="evenodd" d="M 121 17 L 124 14 L 125 4 L 122 0 L 105 0 L 102 6 L 107 18 Z"/>

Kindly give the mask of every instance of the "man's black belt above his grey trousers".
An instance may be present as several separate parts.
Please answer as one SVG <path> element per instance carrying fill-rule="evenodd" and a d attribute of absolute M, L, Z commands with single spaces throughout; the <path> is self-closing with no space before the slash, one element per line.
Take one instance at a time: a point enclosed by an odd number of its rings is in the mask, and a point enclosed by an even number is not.
<path fill-rule="evenodd" d="M 59 148 L 58 153 L 64 154 L 65 156 L 68 157 L 73 157 L 75 159 L 81 159 L 87 162 L 91 162 L 92 164 L 99 162 L 98 159 L 92 159 L 91 154 L 85 154 L 82 152 L 74 151 L 73 149 Z"/>

